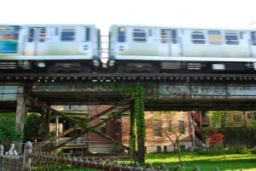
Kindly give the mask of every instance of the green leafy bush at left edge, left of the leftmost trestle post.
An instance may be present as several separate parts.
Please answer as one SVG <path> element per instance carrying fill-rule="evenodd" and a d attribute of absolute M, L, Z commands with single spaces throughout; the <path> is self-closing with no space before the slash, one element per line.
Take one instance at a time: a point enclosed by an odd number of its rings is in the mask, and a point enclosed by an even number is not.
<path fill-rule="evenodd" d="M 15 119 L 0 118 L 0 145 L 10 145 L 15 140 L 21 140 L 22 133 L 15 130 Z"/>

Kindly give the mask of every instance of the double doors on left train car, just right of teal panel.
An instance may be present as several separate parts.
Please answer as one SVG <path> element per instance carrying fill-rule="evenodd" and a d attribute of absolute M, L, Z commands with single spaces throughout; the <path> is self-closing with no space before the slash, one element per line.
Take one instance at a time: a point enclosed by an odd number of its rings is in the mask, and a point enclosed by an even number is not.
<path fill-rule="evenodd" d="M 46 27 L 28 27 L 27 32 L 25 54 L 28 56 L 43 55 Z"/>

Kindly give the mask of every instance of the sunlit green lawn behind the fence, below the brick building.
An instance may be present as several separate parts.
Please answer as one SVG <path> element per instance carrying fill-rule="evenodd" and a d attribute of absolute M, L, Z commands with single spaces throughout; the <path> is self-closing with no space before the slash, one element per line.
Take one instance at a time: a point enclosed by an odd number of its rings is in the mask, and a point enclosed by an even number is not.
<path fill-rule="evenodd" d="M 146 156 L 147 163 L 153 163 L 159 166 L 164 163 L 167 168 L 173 168 L 178 164 L 177 155 L 173 154 L 148 154 Z M 185 170 L 191 171 L 195 166 L 199 166 L 201 171 L 213 171 L 218 167 L 221 171 L 239 170 L 256 171 L 256 155 L 249 154 L 229 154 L 224 156 L 203 156 L 196 153 L 182 153 L 182 163 Z"/>

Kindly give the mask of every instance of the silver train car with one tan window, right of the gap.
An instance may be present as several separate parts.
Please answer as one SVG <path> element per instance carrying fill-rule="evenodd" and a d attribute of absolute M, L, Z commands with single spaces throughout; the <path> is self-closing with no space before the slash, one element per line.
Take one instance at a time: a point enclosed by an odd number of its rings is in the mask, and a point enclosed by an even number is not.
<path fill-rule="evenodd" d="M 255 71 L 256 30 L 114 25 L 113 71 Z"/>

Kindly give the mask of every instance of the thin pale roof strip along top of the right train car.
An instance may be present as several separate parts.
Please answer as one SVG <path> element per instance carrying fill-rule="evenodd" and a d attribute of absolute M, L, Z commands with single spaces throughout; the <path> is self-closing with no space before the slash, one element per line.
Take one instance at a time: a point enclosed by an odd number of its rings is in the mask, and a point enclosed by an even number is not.
<path fill-rule="evenodd" d="M 218 28 L 218 27 L 183 27 L 183 26 L 147 26 L 147 25 L 112 25 L 111 27 L 143 27 L 165 29 L 221 30 L 221 31 L 256 31 L 256 28 Z"/>

